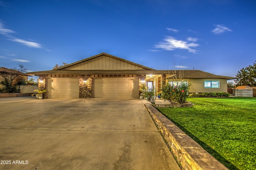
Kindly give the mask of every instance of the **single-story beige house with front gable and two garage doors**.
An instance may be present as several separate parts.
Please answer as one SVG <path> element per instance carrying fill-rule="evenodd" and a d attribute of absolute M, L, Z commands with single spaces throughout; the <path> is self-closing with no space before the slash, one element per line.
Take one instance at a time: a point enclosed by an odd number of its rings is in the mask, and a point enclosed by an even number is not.
<path fill-rule="evenodd" d="M 101 53 L 53 70 L 29 72 L 39 76 L 46 98 L 139 98 L 144 84 L 160 92 L 167 82 L 187 81 L 190 92 L 227 92 L 227 80 L 200 70 L 155 70 Z"/>

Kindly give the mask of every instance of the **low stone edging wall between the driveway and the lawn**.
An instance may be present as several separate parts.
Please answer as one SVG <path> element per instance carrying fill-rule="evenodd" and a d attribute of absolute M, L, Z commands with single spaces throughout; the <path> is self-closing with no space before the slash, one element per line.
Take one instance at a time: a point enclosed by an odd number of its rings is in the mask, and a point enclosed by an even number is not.
<path fill-rule="evenodd" d="M 151 104 L 144 104 L 176 161 L 184 170 L 228 170 Z"/>

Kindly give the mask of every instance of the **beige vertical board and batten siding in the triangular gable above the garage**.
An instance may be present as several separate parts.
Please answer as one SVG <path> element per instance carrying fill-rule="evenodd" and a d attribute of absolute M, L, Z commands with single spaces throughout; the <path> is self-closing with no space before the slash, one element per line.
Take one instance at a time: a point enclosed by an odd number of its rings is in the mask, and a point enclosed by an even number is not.
<path fill-rule="evenodd" d="M 68 66 L 65 70 L 144 70 L 145 68 L 113 58 L 110 56 L 98 56 L 72 66 Z"/>

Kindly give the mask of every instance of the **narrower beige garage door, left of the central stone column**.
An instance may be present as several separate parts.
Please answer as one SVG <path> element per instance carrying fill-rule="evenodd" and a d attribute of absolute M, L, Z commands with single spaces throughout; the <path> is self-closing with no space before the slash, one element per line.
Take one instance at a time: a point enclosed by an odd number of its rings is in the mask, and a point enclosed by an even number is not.
<path fill-rule="evenodd" d="M 79 98 L 78 78 L 48 78 L 48 98 Z"/>

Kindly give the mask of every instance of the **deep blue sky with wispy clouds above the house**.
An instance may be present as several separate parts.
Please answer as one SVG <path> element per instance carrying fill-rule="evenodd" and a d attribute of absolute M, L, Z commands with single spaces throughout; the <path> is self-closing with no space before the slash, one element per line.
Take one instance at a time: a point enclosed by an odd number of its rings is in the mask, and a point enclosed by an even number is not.
<path fill-rule="evenodd" d="M 235 76 L 256 60 L 255 0 L 0 0 L 0 66 L 52 70 L 101 52 Z"/>

